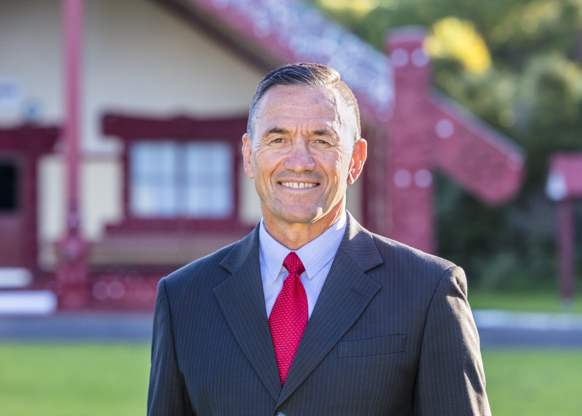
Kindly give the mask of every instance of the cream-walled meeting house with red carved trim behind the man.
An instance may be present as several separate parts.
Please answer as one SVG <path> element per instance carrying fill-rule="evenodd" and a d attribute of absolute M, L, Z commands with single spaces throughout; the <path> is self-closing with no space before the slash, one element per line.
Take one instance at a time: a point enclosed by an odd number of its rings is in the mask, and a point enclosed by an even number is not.
<path fill-rule="evenodd" d="M 370 150 L 347 208 L 371 231 L 436 252 L 435 170 L 489 204 L 519 188 L 519 147 L 432 90 L 420 28 L 392 30 L 383 53 L 292 0 L 87 1 L 77 160 L 87 245 L 63 248 L 75 221 L 65 3 L 0 3 L 0 297 L 23 308 L 54 309 L 68 290 L 59 269 L 76 256 L 84 307 L 151 308 L 159 278 L 252 230 L 261 213 L 241 136 L 257 84 L 289 62 L 332 66 L 358 98 Z"/>

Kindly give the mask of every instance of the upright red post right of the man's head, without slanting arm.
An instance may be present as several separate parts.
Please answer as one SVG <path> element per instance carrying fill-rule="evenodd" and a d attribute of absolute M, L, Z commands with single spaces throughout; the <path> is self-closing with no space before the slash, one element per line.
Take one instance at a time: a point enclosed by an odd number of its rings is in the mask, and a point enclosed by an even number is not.
<path fill-rule="evenodd" d="M 432 203 L 431 108 L 426 97 L 430 65 L 423 51 L 424 30 L 399 29 L 386 48 L 394 73 L 394 111 L 388 122 L 391 238 L 428 253 L 435 252 Z"/>

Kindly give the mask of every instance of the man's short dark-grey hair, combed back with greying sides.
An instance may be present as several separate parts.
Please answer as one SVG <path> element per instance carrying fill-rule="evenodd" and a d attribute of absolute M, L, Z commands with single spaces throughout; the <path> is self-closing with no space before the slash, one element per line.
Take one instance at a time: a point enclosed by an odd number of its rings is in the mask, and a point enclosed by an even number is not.
<path fill-rule="evenodd" d="M 269 72 L 258 84 L 257 91 L 251 101 L 249 109 L 249 121 L 247 122 L 247 134 L 253 140 L 255 118 L 257 118 L 257 107 L 262 96 L 271 87 L 278 85 L 304 85 L 308 87 L 328 87 L 335 90 L 338 96 L 347 107 L 351 108 L 356 116 L 356 137 L 354 142 L 360 138 L 360 108 L 352 90 L 340 79 L 339 72 L 329 66 L 321 64 L 310 64 L 300 62 L 299 64 L 288 64 L 279 66 Z"/>

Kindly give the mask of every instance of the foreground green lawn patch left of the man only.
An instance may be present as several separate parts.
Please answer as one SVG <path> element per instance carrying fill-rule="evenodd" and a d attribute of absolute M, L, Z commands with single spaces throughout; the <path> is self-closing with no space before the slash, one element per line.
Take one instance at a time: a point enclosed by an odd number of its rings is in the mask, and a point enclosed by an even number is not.
<path fill-rule="evenodd" d="M 0 344 L 1 416 L 145 415 L 149 344 Z"/>

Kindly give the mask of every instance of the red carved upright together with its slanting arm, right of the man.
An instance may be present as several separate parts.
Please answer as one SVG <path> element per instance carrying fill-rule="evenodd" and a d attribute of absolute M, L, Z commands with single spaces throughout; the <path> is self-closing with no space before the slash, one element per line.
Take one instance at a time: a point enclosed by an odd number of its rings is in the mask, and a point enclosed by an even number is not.
<path fill-rule="evenodd" d="M 435 253 L 432 171 L 439 169 L 489 205 L 511 198 L 524 173 L 523 150 L 469 111 L 430 89 L 424 30 L 393 30 L 386 48 L 394 76 L 388 122 L 389 237 Z"/>

